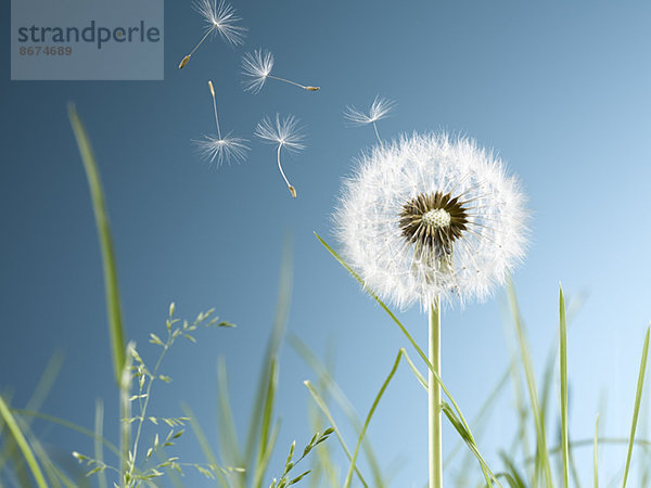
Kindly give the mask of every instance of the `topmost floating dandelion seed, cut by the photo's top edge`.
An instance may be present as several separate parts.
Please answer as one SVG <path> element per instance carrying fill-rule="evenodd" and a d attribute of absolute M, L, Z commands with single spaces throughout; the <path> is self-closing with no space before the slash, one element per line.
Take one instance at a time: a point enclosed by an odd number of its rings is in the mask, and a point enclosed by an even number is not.
<path fill-rule="evenodd" d="M 194 10 L 204 17 L 206 22 L 206 34 L 190 54 L 181 60 L 179 69 L 188 64 L 190 57 L 194 54 L 194 51 L 196 51 L 210 35 L 219 33 L 225 41 L 233 46 L 244 43 L 246 28 L 237 25 L 242 18 L 235 14 L 235 9 L 233 9 L 230 3 L 226 3 L 225 0 L 219 0 L 219 4 L 217 4 L 217 0 L 199 0 L 195 1 L 192 7 L 194 7 Z"/>

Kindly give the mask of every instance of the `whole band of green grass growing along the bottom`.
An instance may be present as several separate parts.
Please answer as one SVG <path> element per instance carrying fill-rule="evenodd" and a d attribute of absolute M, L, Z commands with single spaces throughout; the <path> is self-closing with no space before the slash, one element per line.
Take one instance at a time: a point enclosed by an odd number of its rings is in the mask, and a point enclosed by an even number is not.
<path fill-rule="evenodd" d="M 40 409 L 43 404 L 43 401 L 48 396 L 48 393 L 51 390 L 54 377 L 61 369 L 62 356 L 54 355 L 48 363 L 48 367 L 46 368 L 34 395 L 24 409 L 10 408 L 10 396 L 7 394 L 0 396 L 0 488 L 4 486 L 4 478 L 9 479 L 10 483 L 13 483 L 16 486 L 36 485 L 39 488 L 46 486 L 90 486 L 88 478 L 79 477 L 79 473 L 74 467 L 69 467 L 68 464 L 71 457 L 66 457 L 65 460 L 61 461 L 56 460 L 52 455 L 52 452 L 54 452 L 52 448 L 43 445 L 38 436 L 34 434 L 30 427 L 33 419 L 40 419 L 48 423 L 61 425 L 72 431 L 81 433 L 88 437 L 89 441 L 92 441 L 94 459 L 90 460 L 90 462 L 94 463 L 92 464 L 94 467 L 90 473 L 97 474 L 97 477 L 93 479 L 97 479 L 97 485 L 100 488 L 105 488 L 108 485 L 105 473 L 106 465 L 104 464 L 104 449 L 107 449 L 111 455 L 114 455 L 120 460 L 120 467 L 119 470 L 116 468 L 119 486 L 141 486 L 142 484 L 157 486 L 152 479 L 155 479 L 163 473 L 157 473 L 155 468 L 153 471 L 150 470 L 149 473 L 154 473 L 151 475 L 150 479 L 148 476 L 145 476 L 144 471 L 141 472 L 136 467 L 138 439 L 140 435 L 140 428 L 144 420 L 144 413 L 141 412 L 141 418 L 132 418 L 130 414 L 130 404 L 133 399 L 146 397 L 144 402 L 144 407 L 146 408 L 150 399 L 150 388 L 146 389 L 146 395 L 144 396 L 131 396 L 131 380 L 137 377 L 133 376 L 133 369 L 136 365 L 131 365 L 131 360 L 132 358 L 136 358 L 140 361 L 140 358 L 132 348 L 131 344 L 125 345 L 125 332 L 122 322 L 116 264 L 100 174 L 90 141 L 74 105 L 68 106 L 68 116 L 77 144 L 79 146 L 79 152 L 88 179 L 100 247 L 102 252 L 108 331 L 111 337 L 111 354 L 113 358 L 114 374 L 116 381 L 118 382 L 120 394 L 122 410 L 119 414 L 120 420 L 128 420 L 129 422 L 120 421 L 120 447 L 117 448 L 104 436 L 104 406 L 101 400 L 98 400 L 95 403 L 94 426 L 92 431 L 77 425 L 74 422 L 48 415 L 47 413 L 41 413 Z M 407 328 L 405 328 L 405 325 L 397 319 L 396 314 L 371 290 L 365 287 L 362 280 L 355 273 L 355 271 L 318 234 L 317 239 L 388 314 L 391 320 L 403 332 L 408 343 L 416 349 L 417 354 L 423 361 L 424 367 L 429 370 L 432 370 L 432 364 L 429 362 L 426 356 L 412 338 Z M 157 467 L 165 468 L 165 471 L 169 474 L 168 479 L 174 486 L 183 485 L 182 477 L 179 475 L 182 473 L 181 466 L 195 467 L 200 473 L 203 473 L 209 478 L 214 478 L 214 483 L 217 483 L 219 486 L 225 488 L 261 488 L 269 481 L 268 472 L 270 471 L 270 462 L 277 448 L 277 438 L 281 426 L 280 420 L 277 416 L 277 401 L 280 373 L 280 351 L 284 343 L 284 336 L 288 328 L 292 293 L 291 255 L 291 245 L 288 241 L 283 248 L 283 258 L 281 261 L 277 313 L 267 343 L 266 352 L 260 364 L 257 387 L 255 389 L 255 401 L 253 403 L 246 435 L 244 438 L 240 438 L 238 435 L 233 408 L 229 397 L 226 361 L 224 358 L 220 358 L 217 364 L 216 387 L 218 402 L 216 418 L 218 432 L 215 447 L 210 445 L 209 436 L 207 436 L 202 429 L 199 419 L 195 418 L 191 408 L 187 404 L 182 406 L 183 411 L 189 418 L 188 421 L 190 426 L 194 432 L 196 440 L 207 460 L 207 464 L 201 465 L 193 463 L 177 463 L 176 460 L 178 458 L 168 457 L 163 451 L 163 448 L 159 451 L 156 451 L 156 455 L 159 457 L 159 463 L 157 464 Z M 444 401 L 442 406 L 443 412 L 445 413 L 450 425 L 459 435 L 460 440 L 458 446 L 465 445 L 468 448 L 467 455 L 461 462 L 461 475 L 456 478 L 456 486 L 489 487 L 493 486 L 493 484 L 502 486 L 500 483 L 500 480 L 502 480 L 511 488 L 550 488 L 554 486 L 556 480 L 558 479 L 559 487 L 570 488 L 571 484 L 573 483 L 574 486 L 578 488 L 580 486 L 579 473 L 574 463 L 573 453 L 576 449 L 583 447 L 592 447 L 592 484 L 595 487 L 598 487 L 600 471 L 598 463 L 599 449 L 601 448 L 603 450 L 605 447 L 613 445 L 627 445 L 624 466 L 622 472 L 617 473 L 616 478 L 617 484 L 621 479 L 622 488 L 625 488 L 628 483 L 629 471 L 633 463 L 634 447 L 642 447 L 643 450 L 641 450 L 641 453 L 644 454 L 647 449 L 649 449 L 651 446 L 650 441 L 636 438 L 638 420 L 640 418 L 640 412 L 642 411 L 642 396 L 651 328 L 647 329 L 642 346 L 637 389 L 633 404 L 631 425 L 628 437 L 599 437 L 600 426 L 598 414 L 595 423 L 593 436 L 587 439 L 573 440 L 570 436 L 570 371 L 567 369 L 567 326 L 570 322 L 569 319 L 572 316 L 572 307 L 566 306 L 565 296 L 561 286 L 559 288 L 558 341 L 554 342 L 553 347 L 549 351 L 547 362 L 545 363 L 544 368 L 542 382 L 538 384 L 535 376 L 534 364 L 526 337 L 524 322 L 520 316 L 515 292 L 511 282 L 508 283 L 507 294 L 511 308 L 511 320 L 516 336 L 516 347 L 512 351 L 511 362 L 505 374 L 496 383 L 496 386 L 493 388 L 487 399 L 482 403 L 477 414 L 472 421 L 473 426 L 483 423 L 483 420 L 487 418 L 488 413 L 494 408 L 498 396 L 501 394 L 505 385 L 508 383 L 508 378 L 511 377 L 515 395 L 518 425 L 515 428 L 515 438 L 511 444 L 510 449 L 500 449 L 498 452 L 498 458 L 502 462 L 503 471 L 494 472 L 488 466 L 484 454 L 480 450 L 477 442 L 478 437 L 473 435 L 470 424 L 462 414 L 460 407 L 450 395 L 442 378 L 434 373 L 435 380 L 439 383 L 449 401 L 449 403 Z M 174 305 L 170 307 L 170 320 L 173 310 Z M 209 313 L 212 313 L 212 311 Z M 200 314 L 200 317 L 207 316 Z M 197 319 L 197 321 L 201 320 Z M 167 322 L 168 332 L 170 331 L 170 321 Z M 220 323 L 220 325 L 221 324 L 230 325 L 226 322 Z M 186 330 L 186 326 L 187 324 L 184 325 L 183 330 Z M 188 336 L 187 334 L 183 335 Z M 193 341 L 193 337 L 188 338 Z M 167 345 L 164 345 L 155 334 L 152 334 L 152 342 L 154 344 L 165 346 L 166 350 Z M 346 475 L 345 479 L 343 480 L 343 486 L 346 488 L 352 486 L 356 480 L 367 488 L 383 488 L 385 486 L 390 486 L 390 476 L 386 472 L 383 472 L 384 466 L 376 459 L 370 440 L 367 438 L 367 434 L 373 414 L 380 407 L 381 399 L 388 388 L 390 383 L 394 378 L 397 368 L 403 359 L 407 361 L 407 364 L 409 365 L 410 371 L 414 375 L 416 380 L 425 389 L 427 388 L 427 381 L 420 372 L 418 365 L 409 358 L 404 348 L 399 348 L 392 369 L 388 375 L 383 378 L 380 390 L 373 398 L 370 410 L 365 416 L 365 421 L 362 423 L 355 412 L 354 407 L 346 398 L 345 394 L 336 385 L 332 374 L 332 364 L 323 364 L 316 357 L 316 355 L 309 350 L 308 346 L 301 342 L 301 339 L 297 337 L 291 337 L 291 343 L 301 357 L 317 374 L 317 386 L 312 385 L 310 381 L 305 382 L 311 399 L 314 400 L 314 402 L 310 402 L 308 407 L 308 416 L 311 431 L 316 434 L 312 436 L 311 440 L 307 442 L 303 454 L 299 457 L 294 457 L 295 442 L 292 444 L 290 448 L 290 454 L 288 455 L 284 464 L 284 470 L 278 478 L 273 478 L 271 486 L 275 488 L 282 488 L 297 484 L 305 479 L 305 481 L 309 483 L 310 486 L 314 487 L 322 486 L 323 483 L 328 486 L 337 487 L 342 484 L 341 474 L 344 472 Z M 130 354 L 126 354 L 129 348 L 131 348 Z M 551 413 L 550 398 L 553 396 L 552 391 L 557 373 L 554 367 L 557 354 L 559 355 L 558 376 L 560 380 L 560 388 L 557 391 L 560 399 L 558 412 L 560 416 L 560 427 L 557 432 L 560 444 L 559 446 L 549 448 L 549 429 L 547 426 L 550 424 L 548 420 Z M 518 365 L 520 365 L 521 369 L 519 369 Z M 142 367 L 144 368 L 143 364 Z M 157 367 L 154 372 L 155 371 L 157 371 Z M 528 394 L 528 406 L 524 399 L 525 394 L 521 384 L 522 376 L 524 376 L 524 383 Z M 153 378 L 165 381 L 163 375 L 157 376 L 154 374 L 152 376 L 152 381 Z M 151 382 L 149 386 L 151 387 Z M 539 391 L 541 394 L 539 394 Z M 332 401 L 334 401 L 334 403 L 344 412 L 346 420 L 355 429 L 356 444 L 353 452 L 348 448 L 348 445 L 344 439 L 344 433 L 339 428 L 332 410 L 329 407 L 329 403 Z M 235 411 L 238 410 L 240 409 L 235 409 Z M 599 410 L 603 409 L 600 408 Z M 169 422 L 169 425 L 175 427 L 178 426 L 179 422 L 182 424 L 184 421 L 184 419 L 164 420 Z M 130 434 L 130 428 L 128 425 L 130 422 L 139 422 L 138 435 L 136 437 L 136 442 L 132 450 L 129 450 L 127 446 Z M 332 428 L 329 427 L 330 425 Z M 528 436 L 532 431 L 534 434 L 533 439 L 535 446 L 533 455 L 531 454 L 532 450 L 528 441 Z M 167 440 L 169 442 L 166 442 L 165 447 L 173 446 L 173 440 L 178 438 L 182 433 L 182 429 L 177 431 L 176 433 L 173 429 L 173 432 L 167 436 Z M 322 442 L 328 439 L 331 433 L 334 433 L 340 441 L 343 453 L 347 459 L 347 467 L 336 464 L 334 448 L 332 446 L 322 445 Z M 310 468 L 306 471 L 301 470 L 298 475 L 293 473 L 292 470 L 294 470 L 295 465 L 302 462 L 303 459 L 305 459 L 317 446 L 319 446 L 319 449 L 317 449 L 316 457 L 311 457 L 312 465 Z M 449 459 L 446 461 L 450 462 L 458 450 L 459 448 L 455 447 L 450 452 Z M 152 449 L 148 451 L 146 459 L 149 459 L 152 452 Z M 368 475 L 365 477 L 362 470 L 360 466 L 358 466 L 359 454 L 362 452 L 367 458 L 368 468 L 371 471 L 370 477 Z M 474 467 L 474 470 L 468 463 L 468 460 L 472 461 L 473 458 L 475 459 L 477 466 Z M 78 454 L 78 459 L 80 461 L 88 460 L 88 458 L 80 454 Z M 129 464 L 128 472 L 125 467 L 127 465 L 127 461 Z M 558 472 L 552 472 L 552 463 L 554 466 L 560 466 Z M 648 485 L 646 480 L 649 479 L 651 471 L 649 470 L 648 462 L 646 466 L 643 463 L 640 464 L 641 486 L 646 488 Z M 139 479 L 139 481 L 135 481 L 136 478 Z M 367 479 L 370 481 L 367 481 Z"/>

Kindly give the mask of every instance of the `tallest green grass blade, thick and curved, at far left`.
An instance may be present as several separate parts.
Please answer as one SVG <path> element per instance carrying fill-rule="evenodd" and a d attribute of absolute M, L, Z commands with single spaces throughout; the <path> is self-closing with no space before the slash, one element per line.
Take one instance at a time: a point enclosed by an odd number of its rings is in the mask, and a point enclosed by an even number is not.
<path fill-rule="evenodd" d="M 77 115 L 75 105 L 68 105 L 68 117 L 84 168 L 88 179 L 88 187 L 92 198 L 92 208 L 94 211 L 98 234 L 100 237 L 100 247 L 102 249 L 102 261 L 104 266 L 104 286 L 106 290 L 106 308 L 108 313 L 108 335 L 111 337 L 111 350 L 113 354 L 113 372 L 115 381 L 119 384 L 120 375 L 125 365 L 125 333 L 122 321 L 122 309 L 119 303 L 119 290 L 117 283 L 117 270 L 113 253 L 113 242 L 111 240 L 111 229 L 108 227 L 108 214 L 104 202 L 104 191 L 102 190 L 102 180 L 95 163 L 95 158 L 90 145 L 90 140 L 86 129 Z"/>

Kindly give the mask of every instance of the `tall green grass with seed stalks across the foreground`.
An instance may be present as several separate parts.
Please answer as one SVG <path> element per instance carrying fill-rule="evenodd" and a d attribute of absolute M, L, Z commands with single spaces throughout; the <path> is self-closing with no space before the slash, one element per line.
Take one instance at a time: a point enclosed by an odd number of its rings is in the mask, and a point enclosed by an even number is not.
<path fill-rule="evenodd" d="M 599 466 L 598 452 L 600 449 L 604 450 L 613 445 L 627 446 L 626 457 L 622 459 L 621 477 L 617 478 L 617 485 L 621 484 L 622 488 L 627 486 L 634 453 L 637 452 L 636 446 L 651 447 L 651 442 L 648 440 L 636 437 L 644 389 L 651 330 L 647 329 L 644 341 L 641 344 L 641 359 L 628 436 L 600 437 L 599 416 L 597 416 L 593 436 L 573 440 L 570 433 L 567 395 L 572 380 L 567 367 L 569 358 L 572 356 L 571 343 L 567 341 L 571 307 L 565 303 L 562 287 L 559 290 L 558 341 L 548 355 L 541 376 L 542 381 L 538 382 L 515 292 L 512 284 L 509 283 L 507 295 L 510 305 L 510 322 L 516 337 L 515 350 L 505 373 L 496 378 L 490 395 L 471 422 L 467 420 L 443 378 L 434 372 L 427 356 L 413 339 L 408 328 L 373 291 L 365 287 L 363 290 L 386 312 L 390 321 L 399 329 L 405 337 L 405 344 L 397 347 L 391 368 L 387 363 L 388 374 L 375 378 L 381 385 L 379 391 L 368 407 L 366 415 L 359 418 L 345 393 L 337 386 L 331 365 L 322 362 L 306 343 L 296 336 L 291 336 L 292 346 L 306 361 L 311 372 L 316 374 L 314 382 L 310 380 L 305 382 L 312 399 L 312 403 L 308 407 L 308 416 L 314 435 L 303 442 L 303 449 L 296 450 L 295 441 L 289 447 L 278 446 L 281 428 L 278 412 L 280 351 L 285 342 L 292 290 L 291 246 L 289 244 L 284 247 L 281 264 L 277 313 L 260 363 L 246 432 L 239 433 L 237 428 L 237 412 L 242 410 L 242 406 L 232 406 L 231 403 L 228 373 L 222 358 L 218 361 L 216 375 L 218 398 L 216 406 L 218 434 L 216 438 L 206 434 L 200 419 L 188 404 L 183 403 L 180 407 L 183 416 L 152 416 L 149 413 L 150 402 L 156 401 L 156 388 L 170 381 L 169 376 L 162 374 L 161 365 L 175 342 L 177 339 L 194 342 L 195 334 L 202 328 L 230 328 L 232 324 L 219 320 L 213 309 L 199 313 L 194 320 L 179 319 L 176 316 L 176 307 L 171 304 L 162 333 L 154 332 L 150 335 L 151 347 L 157 350 L 157 359 L 153 362 L 153 368 L 149 367 L 149 361 L 143 359 L 132 343 L 126 343 L 116 262 L 98 165 L 86 129 L 74 106 L 68 107 L 68 114 L 89 183 L 102 249 L 108 317 L 107 330 L 111 337 L 110 352 L 113 358 L 113 369 L 120 398 L 118 435 L 120 444 L 119 446 L 112 444 L 108 439 L 110 433 L 104 432 L 103 401 L 98 401 L 95 404 L 92 428 L 40 411 L 61 364 L 61 357 L 55 356 L 25 408 L 12 407 L 11 396 L 7 393 L 0 396 L 0 488 L 5 485 L 38 486 L 39 488 L 90 486 L 91 481 L 100 488 L 113 484 L 119 487 L 159 486 L 163 484 L 163 479 L 167 479 L 167 483 L 173 486 L 183 486 L 183 474 L 189 468 L 203 475 L 210 485 L 216 484 L 224 488 L 261 488 L 263 486 L 284 488 L 299 483 L 307 483 L 314 487 L 386 487 L 391 485 L 388 470 L 375 455 L 368 433 L 373 425 L 374 414 L 382 408 L 382 398 L 391 388 L 392 382 L 395 381 L 395 373 L 401 362 L 406 362 L 414 381 L 425 390 L 429 384 L 423 371 L 433 372 L 432 377 L 441 385 L 445 394 L 441 408 L 445 419 L 459 436 L 459 444 L 449 452 L 444 464 L 445 468 L 450 470 L 451 460 L 461 451 L 462 447 L 465 449 L 465 457 L 461 464 L 462 476 L 456 478 L 455 486 L 508 486 L 511 488 L 558 486 L 569 488 L 572 485 L 580 486 L 582 475 L 591 475 L 592 485 L 598 487 L 600 485 L 599 476 L 602 476 L 603 472 Z M 341 256 L 319 235 L 317 239 L 363 287 L 363 282 Z M 413 359 L 408 351 L 411 351 Z M 559 390 L 556 391 L 560 399 L 560 409 L 557 412 L 560 418 L 558 432 L 560 442 L 558 446 L 549 447 L 549 441 L 553 438 L 550 435 L 549 416 L 552 413 L 550 397 L 554 395 L 552 385 L 557 373 L 556 364 L 558 364 L 560 384 Z M 484 442 L 480 434 L 482 429 L 478 427 L 485 423 L 488 413 L 495 409 L 509 378 L 515 391 L 516 437 L 511 446 L 505 446 L 493 458 L 488 458 L 482 448 Z M 521 383 L 522 378 L 524 378 L 524 387 Z M 343 412 L 343 420 L 335 418 L 333 403 Z M 89 452 L 92 450 L 92 455 L 80 452 L 73 453 L 81 463 L 82 475 L 86 476 L 79 476 L 79 472 L 71 468 L 66 462 L 54 461 L 50 455 L 51 449 L 43 446 L 31 429 L 30 423 L 34 419 L 81 433 L 88 438 L 89 447 L 85 450 Z M 342 428 L 344 422 L 353 426 L 355 434 L 353 441 L 345 438 L 346 429 Z M 176 449 L 177 440 L 187 435 L 188 428 L 194 434 L 195 441 L 204 453 L 203 462 L 189 462 L 184 460 L 182 453 L 170 453 Z M 155 433 L 153 441 L 145 442 L 143 440 L 145 431 Z M 532 434 L 533 449 L 529 446 Z M 336 441 L 328 441 L 330 437 Z M 573 453 L 584 447 L 591 447 L 593 450 L 591 473 L 579 473 L 574 463 Z M 289 451 L 289 453 L 284 464 L 278 470 L 272 470 L 271 460 L 279 450 L 281 452 Z M 360 465 L 362 455 L 367 460 L 363 466 Z M 343 462 L 339 461 L 341 459 Z M 497 465 L 498 461 L 492 461 L 489 464 L 488 459 L 499 460 L 500 464 Z M 468 463 L 468 460 L 474 462 L 474 468 Z M 560 470 L 554 473 L 552 466 L 557 462 Z M 367 468 L 368 473 L 365 472 Z M 643 473 L 642 479 L 646 479 L 646 476 L 647 472 Z M 422 481 L 418 475 L 414 478 Z"/>

